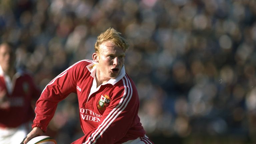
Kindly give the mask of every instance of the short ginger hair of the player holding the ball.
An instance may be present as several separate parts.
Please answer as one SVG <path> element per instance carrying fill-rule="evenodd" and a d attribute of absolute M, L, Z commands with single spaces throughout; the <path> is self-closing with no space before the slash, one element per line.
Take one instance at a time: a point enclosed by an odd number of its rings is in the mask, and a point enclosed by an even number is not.
<path fill-rule="evenodd" d="M 117 32 L 114 28 L 108 28 L 105 32 L 102 32 L 96 40 L 95 43 L 95 52 L 99 52 L 99 46 L 106 41 L 111 41 L 116 44 L 118 47 L 123 49 L 125 52 L 130 46 L 129 43 L 121 36 L 120 32 Z"/>

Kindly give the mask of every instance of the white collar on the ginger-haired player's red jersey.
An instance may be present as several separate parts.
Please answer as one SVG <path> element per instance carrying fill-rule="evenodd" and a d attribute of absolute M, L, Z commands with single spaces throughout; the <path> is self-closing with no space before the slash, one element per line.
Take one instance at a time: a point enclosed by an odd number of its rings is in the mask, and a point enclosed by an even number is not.
<path fill-rule="evenodd" d="M 89 64 L 88 66 L 86 66 L 88 68 L 88 70 L 91 72 L 91 76 L 96 80 L 96 67 L 97 67 L 97 63 L 96 62 L 92 62 L 91 64 Z M 125 75 L 125 68 L 124 65 L 121 68 L 120 73 L 118 74 L 118 76 L 114 79 L 110 79 L 107 82 L 103 83 L 102 85 L 105 84 L 112 84 L 115 85 L 119 80 L 121 80 Z"/>

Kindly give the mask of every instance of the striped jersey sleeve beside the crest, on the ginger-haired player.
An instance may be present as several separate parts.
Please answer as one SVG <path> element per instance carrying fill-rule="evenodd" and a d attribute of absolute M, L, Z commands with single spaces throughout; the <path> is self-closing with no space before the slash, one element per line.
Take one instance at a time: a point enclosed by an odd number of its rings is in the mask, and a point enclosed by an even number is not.
<path fill-rule="evenodd" d="M 104 111 L 98 127 L 72 144 L 116 143 L 134 125 L 137 118 L 139 100 L 137 90 L 128 79 L 122 79 L 124 86 L 116 87 L 110 105 Z"/>

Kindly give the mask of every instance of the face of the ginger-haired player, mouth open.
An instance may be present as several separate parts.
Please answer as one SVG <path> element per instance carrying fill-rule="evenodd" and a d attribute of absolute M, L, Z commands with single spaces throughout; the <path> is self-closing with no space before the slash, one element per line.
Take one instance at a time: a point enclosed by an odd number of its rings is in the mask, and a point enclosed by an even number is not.
<path fill-rule="evenodd" d="M 97 77 L 103 81 L 116 78 L 125 60 L 125 52 L 114 43 L 107 41 L 100 45 L 97 59 Z"/>

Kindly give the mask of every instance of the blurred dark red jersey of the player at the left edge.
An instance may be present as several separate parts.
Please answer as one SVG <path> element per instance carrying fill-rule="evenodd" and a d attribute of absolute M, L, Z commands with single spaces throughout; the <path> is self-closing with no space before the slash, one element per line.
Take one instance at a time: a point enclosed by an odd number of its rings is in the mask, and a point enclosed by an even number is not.
<path fill-rule="evenodd" d="M 40 91 L 28 73 L 24 71 L 16 73 L 13 78 L 13 88 L 8 91 L 0 68 L 0 91 L 6 91 L 7 100 L 10 102 L 10 106 L 0 107 L 0 127 L 15 128 L 34 119 L 35 113 L 31 101 L 39 98 Z"/>

